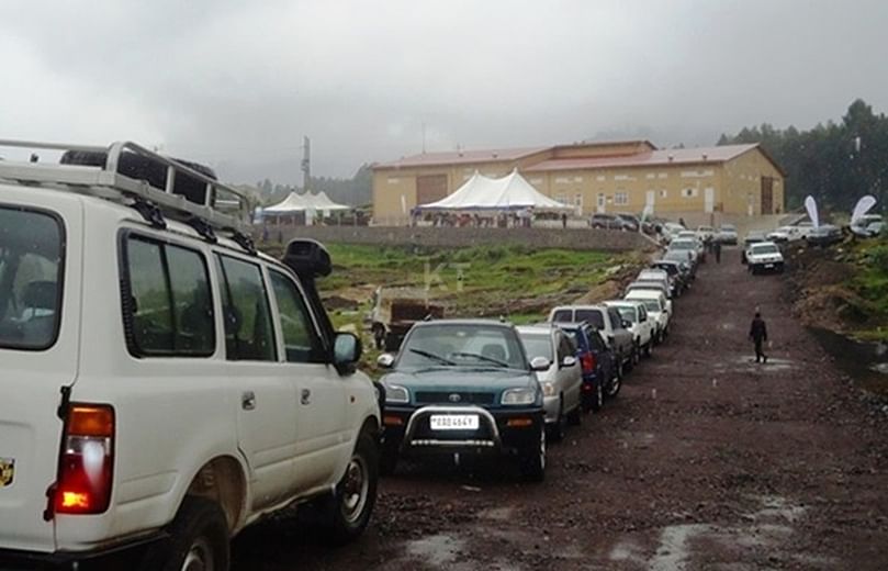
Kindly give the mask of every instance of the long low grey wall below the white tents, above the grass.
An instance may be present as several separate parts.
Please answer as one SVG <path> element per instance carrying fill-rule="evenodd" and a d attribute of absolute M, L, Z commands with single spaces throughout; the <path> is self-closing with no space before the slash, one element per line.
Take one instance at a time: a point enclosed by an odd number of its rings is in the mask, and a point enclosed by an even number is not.
<path fill-rule="evenodd" d="M 277 237 L 277 231 L 272 232 Z M 535 248 L 567 248 L 629 251 L 652 247 L 644 236 L 631 232 L 593 228 L 452 228 L 406 226 L 301 226 L 283 229 L 284 240 L 314 238 L 322 243 L 379 246 L 434 246 L 464 248 L 493 244 L 518 244 Z"/>

